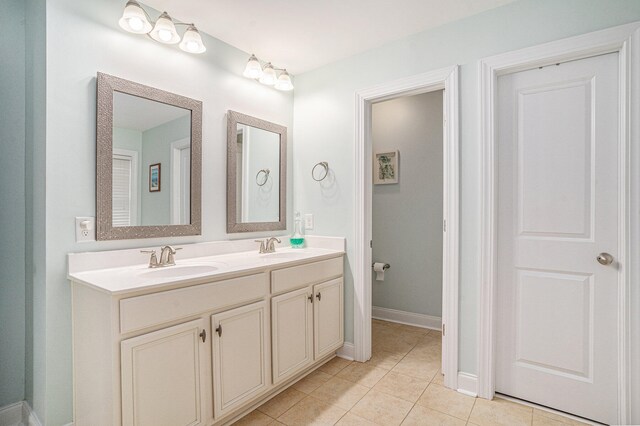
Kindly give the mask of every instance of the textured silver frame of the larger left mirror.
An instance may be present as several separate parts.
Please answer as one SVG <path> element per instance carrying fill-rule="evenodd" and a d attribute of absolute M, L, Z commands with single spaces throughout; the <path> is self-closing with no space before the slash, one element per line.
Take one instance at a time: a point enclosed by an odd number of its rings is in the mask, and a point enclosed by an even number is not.
<path fill-rule="evenodd" d="M 113 224 L 113 93 L 191 110 L 191 223 L 188 225 L 121 226 Z M 96 240 L 201 235 L 202 102 L 164 90 L 98 73 L 96 128 Z"/>

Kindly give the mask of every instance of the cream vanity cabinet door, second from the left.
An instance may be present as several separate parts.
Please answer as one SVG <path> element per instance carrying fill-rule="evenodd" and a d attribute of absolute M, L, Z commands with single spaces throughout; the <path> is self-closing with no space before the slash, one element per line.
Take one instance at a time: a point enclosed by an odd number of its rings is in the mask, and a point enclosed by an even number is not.
<path fill-rule="evenodd" d="M 267 302 L 211 317 L 214 417 L 220 418 L 267 388 Z"/>

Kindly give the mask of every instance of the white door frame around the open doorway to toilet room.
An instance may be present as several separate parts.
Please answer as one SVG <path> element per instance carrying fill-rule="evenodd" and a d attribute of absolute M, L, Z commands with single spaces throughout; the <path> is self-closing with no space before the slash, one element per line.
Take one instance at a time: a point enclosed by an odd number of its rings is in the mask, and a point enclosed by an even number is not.
<path fill-rule="evenodd" d="M 355 265 L 354 359 L 371 358 L 372 139 L 371 106 L 399 96 L 443 90 L 443 291 L 442 323 L 445 386 L 458 381 L 459 264 L 459 78 L 458 66 L 442 68 L 360 90 L 355 96 Z M 444 225 L 443 225 L 444 226 Z"/>

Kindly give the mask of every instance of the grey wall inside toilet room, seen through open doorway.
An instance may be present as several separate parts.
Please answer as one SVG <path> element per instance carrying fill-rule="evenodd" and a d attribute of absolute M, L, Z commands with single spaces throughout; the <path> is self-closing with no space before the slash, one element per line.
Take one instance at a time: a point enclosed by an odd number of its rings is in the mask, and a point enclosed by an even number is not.
<path fill-rule="evenodd" d="M 442 91 L 374 104 L 373 152 L 399 150 L 397 184 L 373 186 L 373 306 L 442 316 Z"/>

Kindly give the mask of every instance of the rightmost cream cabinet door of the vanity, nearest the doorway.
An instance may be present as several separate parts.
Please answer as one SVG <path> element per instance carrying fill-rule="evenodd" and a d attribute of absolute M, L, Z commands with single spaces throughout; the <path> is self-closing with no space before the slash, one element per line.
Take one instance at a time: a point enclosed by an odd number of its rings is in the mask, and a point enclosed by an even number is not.
<path fill-rule="evenodd" d="M 319 359 L 344 344 L 342 278 L 313 286 L 314 357 Z"/>

